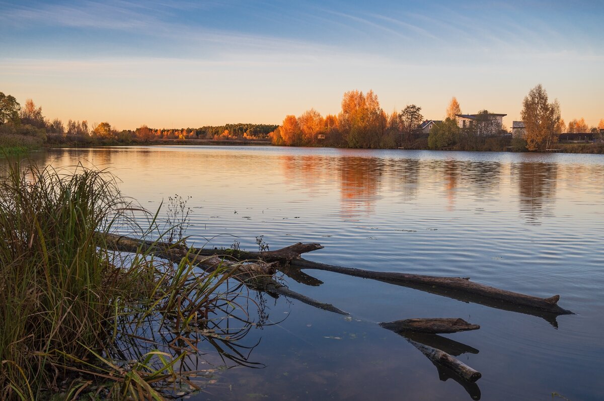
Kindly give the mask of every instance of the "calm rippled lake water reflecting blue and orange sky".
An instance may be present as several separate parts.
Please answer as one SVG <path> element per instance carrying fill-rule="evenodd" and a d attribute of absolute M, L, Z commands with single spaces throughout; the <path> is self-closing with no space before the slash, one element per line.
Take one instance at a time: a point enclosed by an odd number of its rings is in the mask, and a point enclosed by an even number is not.
<path fill-rule="evenodd" d="M 321 242 L 308 259 L 472 280 L 540 297 L 555 321 L 321 271 L 292 289 L 352 320 L 283 298 L 242 339 L 252 369 L 227 361 L 196 400 L 604 399 L 604 156 L 309 148 L 134 147 L 53 150 L 39 163 L 111 168 L 155 210 L 190 196 L 196 245 L 255 250 Z M 464 388 L 376 322 L 461 317 L 444 335 L 483 373 Z M 257 320 L 257 317 L 256 317 Z M 557 326 L 557 327 L 556 327 Z M 225 365 L 207 348 L 208 367 Z M 248 355 L 249 353 L 249 355 Z M 204 359 L 204 357 L 202 357 Z"/>

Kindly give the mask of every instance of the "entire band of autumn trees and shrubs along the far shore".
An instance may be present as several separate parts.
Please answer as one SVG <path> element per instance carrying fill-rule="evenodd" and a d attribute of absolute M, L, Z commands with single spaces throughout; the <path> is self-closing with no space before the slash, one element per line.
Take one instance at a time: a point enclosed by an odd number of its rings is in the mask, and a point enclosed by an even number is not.
<path fill-rule="evenodd" d="M 528 100 L 527 100 L 528 99 Z M 545 103 L 542 100 L 545 99 Z M 591 141 L 604 141 L 604 119 L 588 127 L 585 119 L 565 124 L 557 101 L 547 103 L 547 92 L 536 86 L 522 102 L 522 133 L 510 131 L 488 110 L 471 115 L 473 124 L 462 127 L 461 107 L 456 98 L 443 120 L 428 120 L 422 107 L 410 104 L 400 112 L 384 112 L 377 95 L 370 90 L 344 93 L 341 112 L 322 116 L 315 109 L 300 116 L 288 115 L 281 125 L 225 124 L 199 128 L 151 128 L 118 130 L 109 122 L 90 127 L 88 122 L 59 119 L 50 121 L 28 99 L 24 107 L 13 96 L 0 93 L 0 148 L 18 153 L 43 145 L 282 145 L 344 148 L 403 148 L 477 151 L 545 151 L 557 144 L 562 133 L 589 133 Z M 585 139 L 585 136 L 582 137 Z M 565 146 L 586 153 L 601 153 L 590 144 Z"/>

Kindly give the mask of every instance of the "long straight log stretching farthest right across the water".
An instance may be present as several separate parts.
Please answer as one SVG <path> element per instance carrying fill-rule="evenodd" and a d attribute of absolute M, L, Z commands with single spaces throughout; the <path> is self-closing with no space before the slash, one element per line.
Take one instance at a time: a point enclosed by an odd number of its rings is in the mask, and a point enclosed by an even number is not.
<path fill-rule="evenodd" d="M 465 277 L 437 277 L 424 276 L 422 274 L 394 273 L 383 271 L 370 271 L 335 265 L 327 265 L 312 262 L 306 259 L 292 259 L 291 265 L 301 269 L 315 269 L 331 271 L 333 273 L 347 274 L 349 276 L 362 277 L 364 279 L 381 280 L 389 283 L 400 283 L 401 285 L 417 285 L 427 288 L 440 288 L 463 294 L 477 295 L 479 297 L 495 300 L 496 302 L 520 305 L 539 311 L 550 312 L 558 315 L 570 315 L 573 312 L 563 309 L 557 305 L 560 295 L 549 298 L 533 297 L 532 295 L 520 294 L 519 292 L 506 291 L 480 283 L 474 283 Z M 422 288 L 419 288 L 422 289 Z"/>

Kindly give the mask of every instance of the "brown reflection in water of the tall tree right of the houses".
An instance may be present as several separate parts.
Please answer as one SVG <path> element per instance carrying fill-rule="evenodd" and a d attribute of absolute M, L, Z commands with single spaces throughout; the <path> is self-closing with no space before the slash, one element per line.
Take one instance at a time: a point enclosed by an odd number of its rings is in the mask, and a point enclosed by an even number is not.
<path fill-rule="evenodd" d="M 541 224 L 540 218 L 551 215 L 556 197 L 556 163 L 518 163 L 520 213 L 530 224 Z"/>

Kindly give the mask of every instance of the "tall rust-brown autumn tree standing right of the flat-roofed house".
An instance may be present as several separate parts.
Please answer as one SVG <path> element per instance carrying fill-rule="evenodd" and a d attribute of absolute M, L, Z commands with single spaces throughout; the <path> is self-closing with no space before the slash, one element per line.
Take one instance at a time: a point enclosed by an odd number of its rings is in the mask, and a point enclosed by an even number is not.
<path fill-rule="evenodd" d="M 541 84 L 525 96 L 520 116 L 525 125 L 528 150 L 545 150 L 557 141 L 556 125 L 561 119 L 560 105 L 557 100 L 548 103 L 547 92 Z"/>

